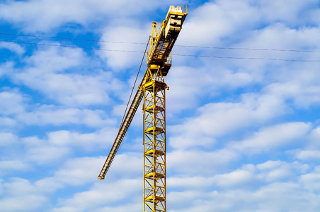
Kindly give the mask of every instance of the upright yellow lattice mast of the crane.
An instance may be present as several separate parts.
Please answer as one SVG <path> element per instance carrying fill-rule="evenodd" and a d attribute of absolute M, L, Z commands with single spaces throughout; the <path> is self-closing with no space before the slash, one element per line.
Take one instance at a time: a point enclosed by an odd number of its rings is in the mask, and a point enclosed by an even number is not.
<path fill-rule="evenodd" d="M 166 211 L 166 96 L 161 66 L 149 66 L 144 102 L 144 212 Z"/>

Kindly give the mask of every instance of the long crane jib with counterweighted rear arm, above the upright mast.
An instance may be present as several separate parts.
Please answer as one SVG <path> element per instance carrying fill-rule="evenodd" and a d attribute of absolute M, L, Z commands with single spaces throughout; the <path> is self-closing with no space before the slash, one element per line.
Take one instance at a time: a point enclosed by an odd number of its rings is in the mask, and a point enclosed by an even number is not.
<path fill-rule="evenodd" d="M 161 22 L 161 28 L 157 29 L 157 22 L 153 22 L 152 25 L 152 42 L 150 45 L 150 50 L 147 56 L 147 65 L 148 69 L 146 73 L 144 73 L 144 77 L 142 78 L 142 82 L 139 84 L 139 89 L 135 94 L 135 98 L 133 98 L 132 103 L 130 105 L 127 114 L 125 115 L 125 119 L 123 120 L 120 129 L 118 131 L 118 135 L 115 138 L 113 146 L 110 150 L 110 153 L 105 160 L 103 168 L 98 175 L 98 179 L 105 179 L 105 174 L 108 172 L 108 169 L 115 158 L 115 155 L 120 148 L 122 140 L 127 133 L 127 129 L 129 128 L 133 117 L 135 116 L 135 112 L 137 112 L 137 108 L 139 107 L 142 98 L 144 97 L 144 93 L 142 92 L 142 86 L 146 83 L 150 78 L 148 76 L 148 70 L 150 70 L 151 64 L 156 64 L 161 67 L 162 76 L 166 76 L 168 70 L 171 67 L 171 49 L 176 42 L 176 38 L 181 30 L 181 25 L 185 20 L 185 16 L 188 13 L 188 7 L 174 7 L 170 6 L 168 13 L 166 15 L 166 19 Z M 149 78 L 149 79 L 147 79 Z"/>

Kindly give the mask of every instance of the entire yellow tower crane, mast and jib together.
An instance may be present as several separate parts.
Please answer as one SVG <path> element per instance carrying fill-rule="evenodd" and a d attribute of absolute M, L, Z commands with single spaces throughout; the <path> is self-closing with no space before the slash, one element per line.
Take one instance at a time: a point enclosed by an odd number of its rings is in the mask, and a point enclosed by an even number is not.
<path fill-rule="evenodd" d="M 153 22 L 147 71 L 123 119 L 108 158 L 98 176 L 104 179 L 143 99 L 144 212 L 166 211 L 166 95 L 164 76 L 171 67 L 171 49 L 180 33 L 188 6 L 170 6 L 166 19 Z M 159 27 L 158 27 L 159 25 Z"/>

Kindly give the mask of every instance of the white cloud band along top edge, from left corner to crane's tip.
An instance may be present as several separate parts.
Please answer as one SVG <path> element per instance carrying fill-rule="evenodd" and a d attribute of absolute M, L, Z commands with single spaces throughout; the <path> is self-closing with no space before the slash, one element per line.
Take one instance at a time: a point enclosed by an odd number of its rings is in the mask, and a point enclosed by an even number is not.
<path fill-rule="evenodd" d="M 144 15 L 169 1 L 7 1 L 0 5 L 0 18 L 18 26 L 25 32 L 50 31 L 68 23 L 89 26 L 89 23 L 110 23 L 119 17 Z M 176 4 L 180 4 L 176 2 Z M 41 17 L 41 18 L 39 18 Z"/>

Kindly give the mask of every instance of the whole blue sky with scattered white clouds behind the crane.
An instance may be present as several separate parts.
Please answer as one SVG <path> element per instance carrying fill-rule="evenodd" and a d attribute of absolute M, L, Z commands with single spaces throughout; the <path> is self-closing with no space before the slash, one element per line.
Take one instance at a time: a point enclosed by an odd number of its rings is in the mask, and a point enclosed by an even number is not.
<path fill-rule="evenodd" d="M 319 211 L 316 0 L 0 1 L 0 211 L 142 211 L 141 110 L 97 179 L 142 53 L 93 49 L 144 51 L 183 4 L 172 53 L 209 57 L 165 78 L 168 212 Z"/>

